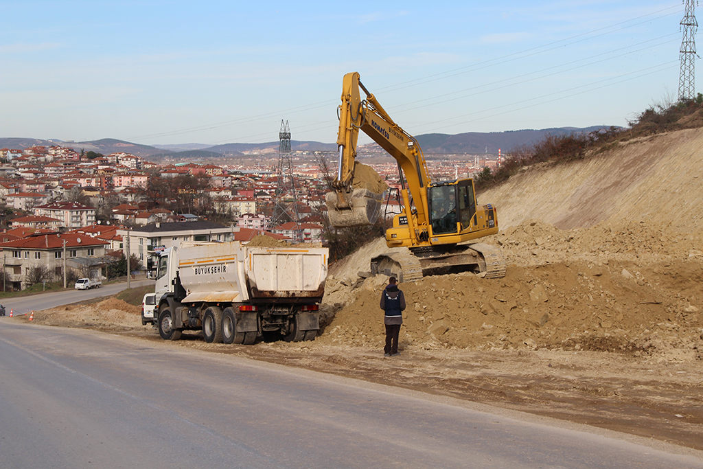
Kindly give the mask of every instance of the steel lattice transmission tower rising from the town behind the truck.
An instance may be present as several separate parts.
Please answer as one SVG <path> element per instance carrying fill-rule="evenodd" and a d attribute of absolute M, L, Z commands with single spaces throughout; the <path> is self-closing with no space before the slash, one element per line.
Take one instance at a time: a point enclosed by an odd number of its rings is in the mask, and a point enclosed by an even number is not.
<path fill-rule="evenodd" d="M 288 221 L 300 223 L 293 163 L 290 158 L 290 127 L 288 127 L 288 121 L 285 121 L 285 123 L 283 120 L 280 121 L 278 139 L 280 140 L 278 144 L 278 181 L 276 183 L 275 205 L 273 206 L 271 224 L 269 225 L 272 228 Z"/>

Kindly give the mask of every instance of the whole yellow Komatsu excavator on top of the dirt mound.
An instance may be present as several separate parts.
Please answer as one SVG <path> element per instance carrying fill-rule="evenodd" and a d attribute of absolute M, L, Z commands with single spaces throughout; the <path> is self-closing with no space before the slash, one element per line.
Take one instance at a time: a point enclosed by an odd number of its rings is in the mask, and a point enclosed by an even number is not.
<path fill-rule="evenodd" d="M 358 72 L 344 75 L 339 117 L 339 165 L 333 191 L 325 195 L 332 226 L 374 224 L 380 214 L 383 190 L 359 180 L 364 166 L 356 161 L 360 130 L 398 162 L 403 212 L 394 216 L 387 229 L 386 244 L 409 248 L 409 252 L 389 250 L 374 257 L 373 274 L 393 275 L 404 282 L 464 271 L 485 273 L 487 278 L 505 276 L 500 250 L 486 243 L 468 243 L 498 233 L 496 208 L 477 205 L 472 179 L 430 181 L 418 141 L 393 122 L 361 84 Z"/>

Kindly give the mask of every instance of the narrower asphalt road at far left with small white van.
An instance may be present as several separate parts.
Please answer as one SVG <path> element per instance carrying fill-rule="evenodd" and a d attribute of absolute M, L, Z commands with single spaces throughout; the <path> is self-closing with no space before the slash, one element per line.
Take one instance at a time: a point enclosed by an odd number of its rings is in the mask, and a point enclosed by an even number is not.
<path fill-rule="evenodd" d="M 130 282 L 131 288 L 153 284 L 153 280 Z M 62 304 L 71 304 L 79 301 L 91 300 L 92 298 L 112 296 L 125 289 L 127 289 L 127 282 L 110 283 L 110 285 L 104 285 L 101 288 L 93 288 L 91 290 L 62 290 L 60 292 L 39 293 L 38 295 L 30 295 L 25 297 L 6 298 L 5 300 L 0 300 L 0 303 L 5 307 L 6 314 L 8 316 L 10 315 L 11 309 L 13 310 L 14 315 L 20 316 L 22 314 L 30 314 L 31 311 L 40 311 L 41 309 L 53 308 L 61 306 Z"/>

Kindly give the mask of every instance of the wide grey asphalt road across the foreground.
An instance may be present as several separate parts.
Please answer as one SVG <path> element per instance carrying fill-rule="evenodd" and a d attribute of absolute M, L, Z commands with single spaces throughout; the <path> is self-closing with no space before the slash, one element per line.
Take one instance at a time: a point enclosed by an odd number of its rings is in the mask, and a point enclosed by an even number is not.
<path fill-rule="evenodd" d="M 604 430 L 9 318 L 0 396 L 1 468 L 703 468 Z"/>

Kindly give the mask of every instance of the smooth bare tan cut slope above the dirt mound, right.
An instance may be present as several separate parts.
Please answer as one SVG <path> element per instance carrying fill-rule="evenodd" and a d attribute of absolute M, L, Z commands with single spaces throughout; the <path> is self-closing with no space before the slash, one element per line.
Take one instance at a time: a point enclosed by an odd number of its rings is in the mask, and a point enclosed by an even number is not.
<path fill-rule="evenodd" d="M 531 167 L 478 195 L 502 229 L 540 219 L 558 229 L 646 221 L 664 233 L 703 229 L 703 129 L 619 143 L 586 161 Z"/>

